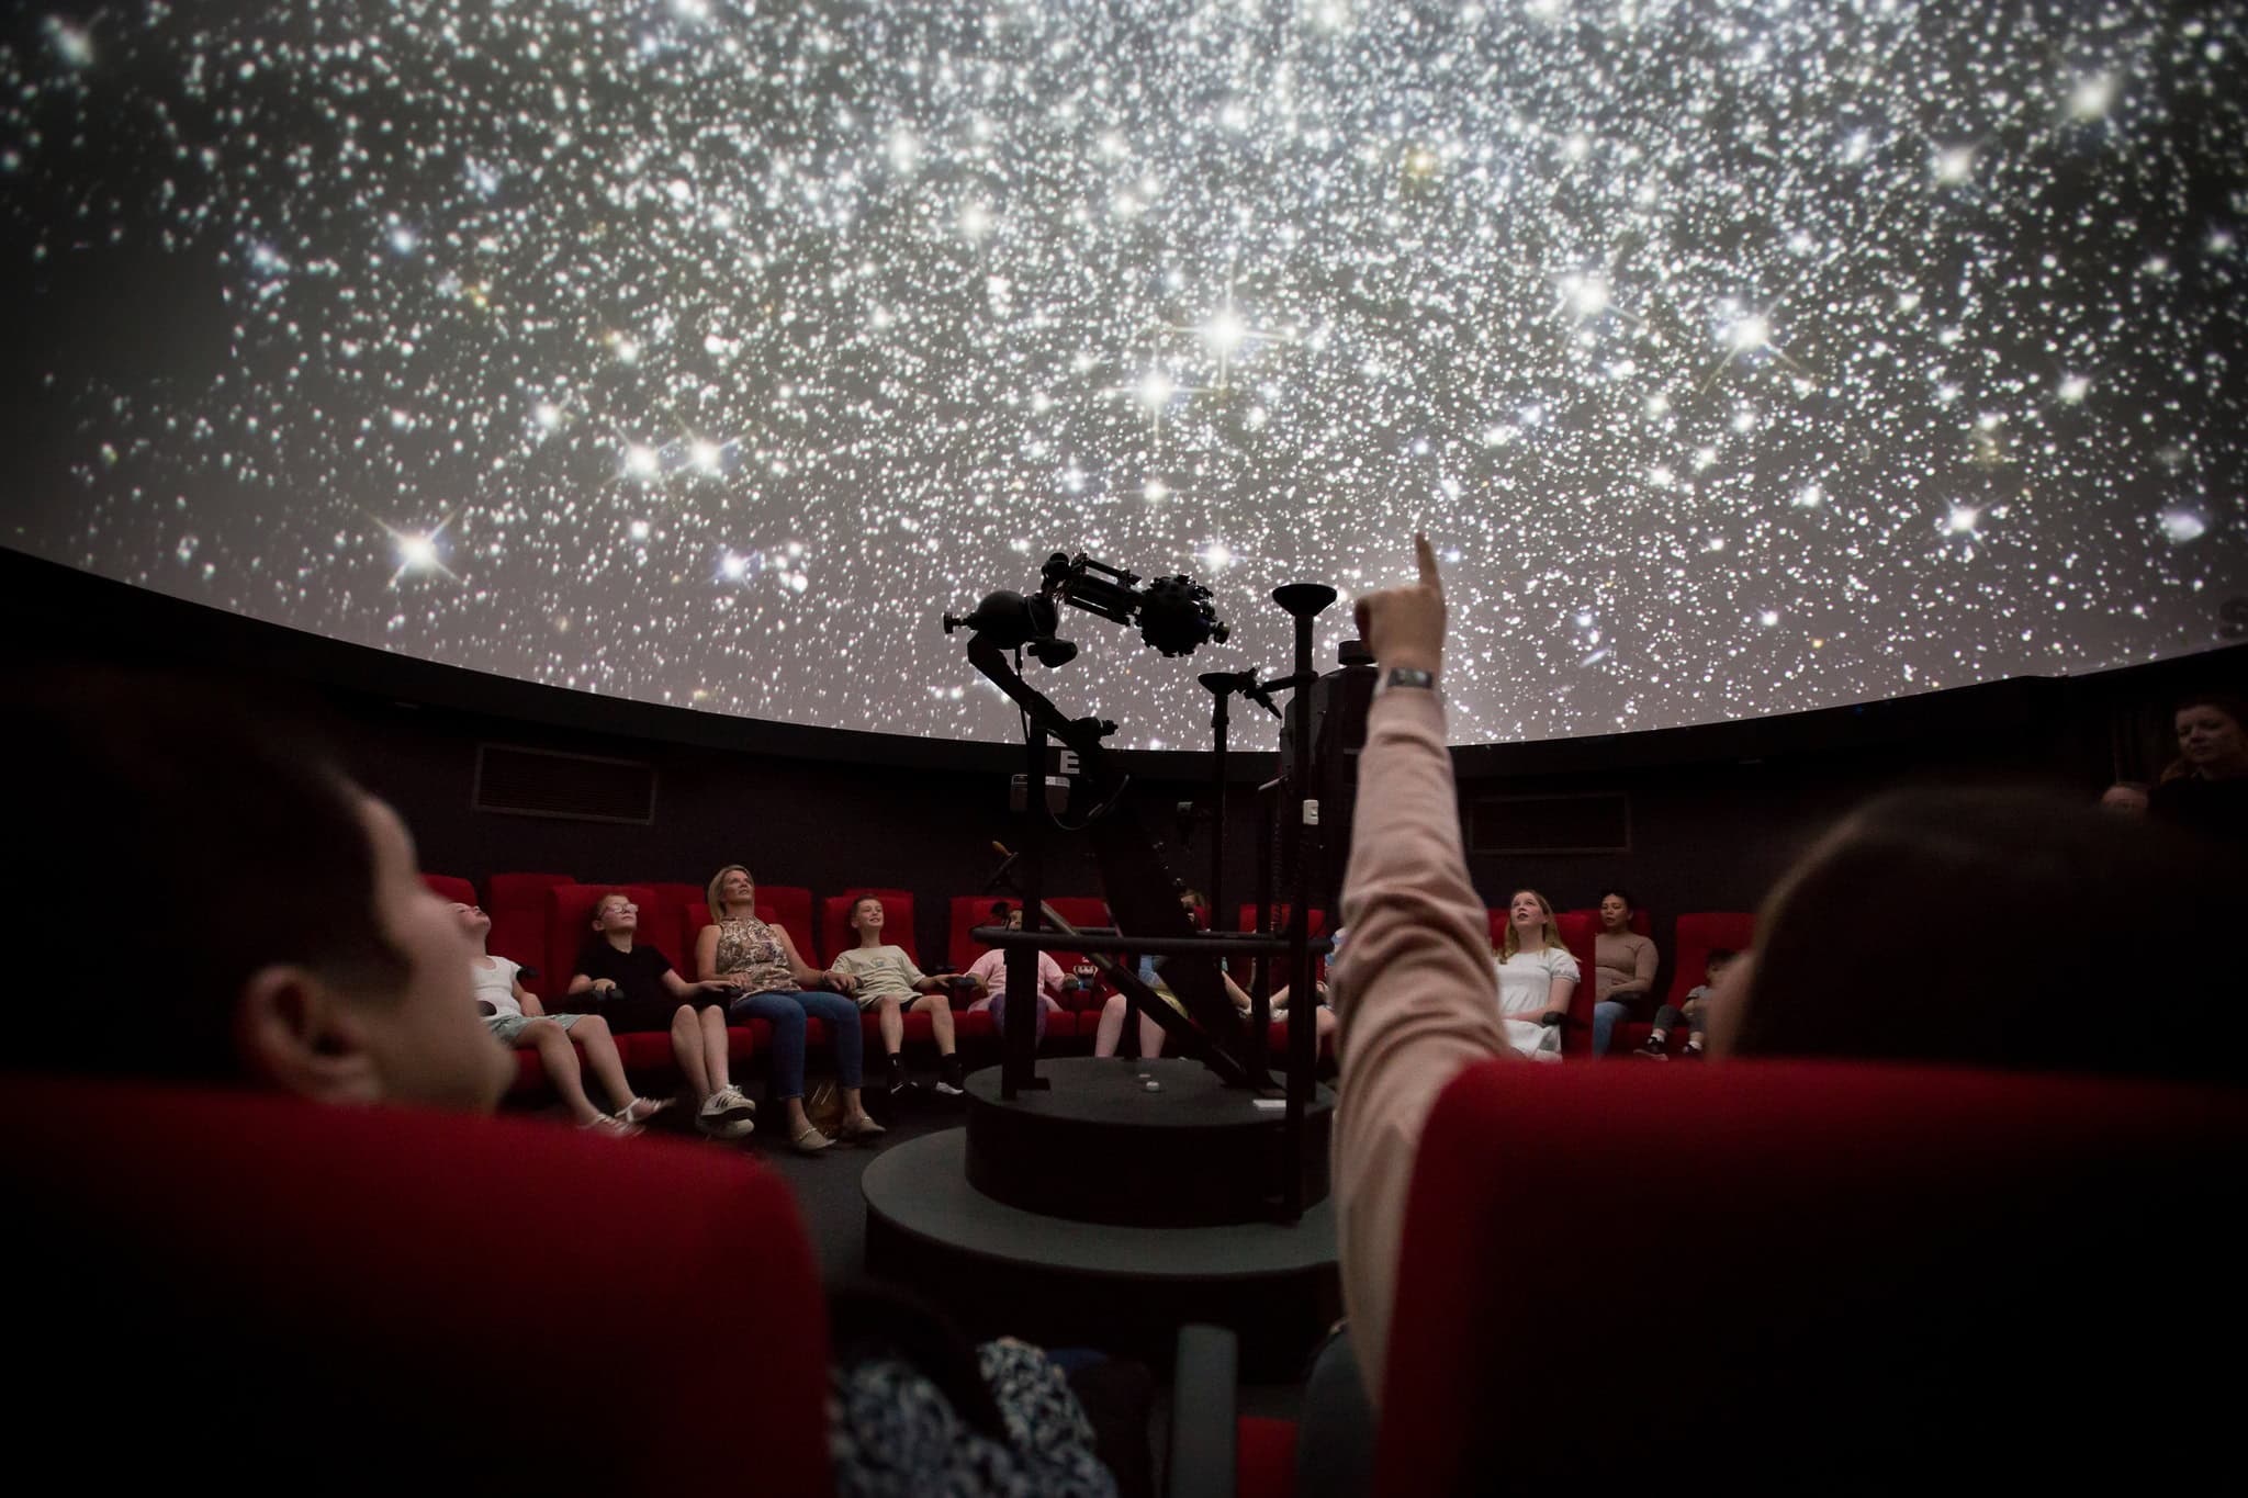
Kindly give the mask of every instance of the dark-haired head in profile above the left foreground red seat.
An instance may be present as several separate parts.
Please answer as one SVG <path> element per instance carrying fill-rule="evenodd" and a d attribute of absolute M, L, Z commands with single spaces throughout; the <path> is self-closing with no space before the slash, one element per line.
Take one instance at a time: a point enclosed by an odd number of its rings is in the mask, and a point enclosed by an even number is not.
<path fill-rule="evenodd" d="M 0 1026 L 7 1065 L 497 1103 L 515 1058 L 477 1020 L 472 948 L 398 815 L 321 748 L 223 687 L 144 674 L 34 676 L 11 705 L 36 793 L 0 878 L 38 932 L 13 975 L 40 1002 Z M 135 981 L 97 999 L 63 932 L 121 858 L 162 869 L 164 894 L 103 923 L 103 970 Z"/>

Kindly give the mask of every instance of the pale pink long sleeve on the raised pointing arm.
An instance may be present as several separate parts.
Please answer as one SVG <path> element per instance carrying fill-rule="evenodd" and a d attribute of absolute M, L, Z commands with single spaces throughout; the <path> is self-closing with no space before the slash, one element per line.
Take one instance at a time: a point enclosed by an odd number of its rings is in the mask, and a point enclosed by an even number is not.
<path fill-rule="evenodd" d="M 1333 984 L 1342 1020 L 1335 1222 L 1351 1343 L 1367 1397 L 1380 1406 L 1421 1125 L 1463 1067 L 1513 1056 L 1490 999 L 1490 930 L 1468 880 L 1434 692 L 1374 698 L 1342 919 L 1351 946 Z"/>

